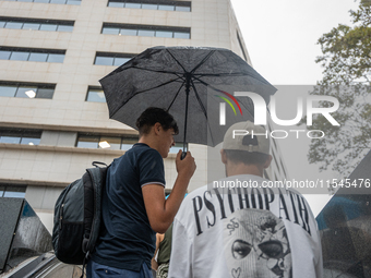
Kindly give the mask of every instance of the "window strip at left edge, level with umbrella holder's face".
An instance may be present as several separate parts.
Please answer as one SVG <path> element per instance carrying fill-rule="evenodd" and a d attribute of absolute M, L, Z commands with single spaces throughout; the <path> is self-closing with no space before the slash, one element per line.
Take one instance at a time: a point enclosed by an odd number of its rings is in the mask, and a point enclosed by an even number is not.
<path fill-rule="evenodd" d="M 34 146 L 40 144 L 40 130 L 0 129 L 0 143 Z"/>

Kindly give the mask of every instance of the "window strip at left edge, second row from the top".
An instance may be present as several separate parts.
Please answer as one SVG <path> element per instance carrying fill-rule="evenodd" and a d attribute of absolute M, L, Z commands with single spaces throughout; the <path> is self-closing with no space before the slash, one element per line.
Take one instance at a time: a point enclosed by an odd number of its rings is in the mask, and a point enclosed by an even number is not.
<path fill-rule="evenodd" d="M 0 28 L 72 32 L 72 21 L 1 17 Z"/>

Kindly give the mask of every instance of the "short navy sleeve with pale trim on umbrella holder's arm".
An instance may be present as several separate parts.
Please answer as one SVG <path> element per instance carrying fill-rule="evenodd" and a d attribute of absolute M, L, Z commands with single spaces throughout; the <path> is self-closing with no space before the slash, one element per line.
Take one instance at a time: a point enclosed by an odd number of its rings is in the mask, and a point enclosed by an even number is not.
<path fill-rule="evenodd" d="M 141 188 L 147 184 L 165 186 L 164 160 L 156 149 L 145 152 L 139 162 Z"/>

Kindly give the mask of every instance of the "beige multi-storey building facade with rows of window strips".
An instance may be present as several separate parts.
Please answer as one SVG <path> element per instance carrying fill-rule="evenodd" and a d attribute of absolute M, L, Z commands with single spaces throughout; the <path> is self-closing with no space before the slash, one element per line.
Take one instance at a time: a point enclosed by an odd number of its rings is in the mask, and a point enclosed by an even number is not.
<path fill-rule="evenodd" d="M 25 195 L 50 230 L 61 190 L 137 140 L 108 119 L 98 81 L 153 46 L 227 48 L 251 64 L 229 0 L 0 0 L 0 196 Z M 205 184 L 206 148 L 189 148 L 192 191 Z M 272 148 L 267 176 L 280 179 Z M 175 154 L 165 170 L 169 191 Z"/>

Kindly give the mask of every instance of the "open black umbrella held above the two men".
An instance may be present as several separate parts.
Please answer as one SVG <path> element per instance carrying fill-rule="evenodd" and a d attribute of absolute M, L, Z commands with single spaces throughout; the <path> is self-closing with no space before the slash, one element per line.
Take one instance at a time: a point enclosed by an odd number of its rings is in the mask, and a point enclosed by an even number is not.
<path fill-rule="evenodd" d="M 180 126 L 184 150 L 185 142 L 215 146 L 230 124 L 253 119 L 251 99 L 237 99 L 234 92 L 258 93 L 266 104 L 276 92 L 232 51 L 206 47 L 148 48 L 99 82 L 110 119 L 135 129 L 147 107 L 167 109 Z M 229 105 L 225 125 L 220 102 Z"/>

